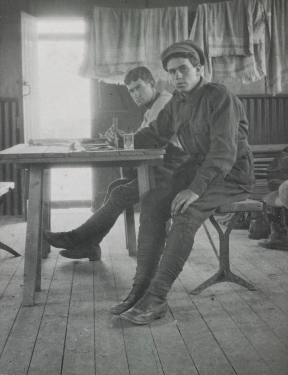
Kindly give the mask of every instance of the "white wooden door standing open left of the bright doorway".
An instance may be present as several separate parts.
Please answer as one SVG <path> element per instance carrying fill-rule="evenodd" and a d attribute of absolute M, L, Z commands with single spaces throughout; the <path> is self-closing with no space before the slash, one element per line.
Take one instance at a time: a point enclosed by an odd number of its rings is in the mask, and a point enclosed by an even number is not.
<path fill-rule="evenodd" d="M 38 33 L 36 18 L 21 12 L 24 142 L 39 138 Z"/>

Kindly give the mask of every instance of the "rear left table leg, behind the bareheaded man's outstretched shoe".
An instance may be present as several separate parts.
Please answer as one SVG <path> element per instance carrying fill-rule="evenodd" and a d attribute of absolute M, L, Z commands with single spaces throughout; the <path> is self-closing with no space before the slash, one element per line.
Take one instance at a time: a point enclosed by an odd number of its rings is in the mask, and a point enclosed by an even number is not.
<path fill-rule="evenodd" d="M 51 169 L 44 169 L 43 172 L 43 228 L 50 231 L 50 202 L 51 196 Z M 50 252 L 50 245 L 42 236 L 42 258 L 47 259 Z"/>

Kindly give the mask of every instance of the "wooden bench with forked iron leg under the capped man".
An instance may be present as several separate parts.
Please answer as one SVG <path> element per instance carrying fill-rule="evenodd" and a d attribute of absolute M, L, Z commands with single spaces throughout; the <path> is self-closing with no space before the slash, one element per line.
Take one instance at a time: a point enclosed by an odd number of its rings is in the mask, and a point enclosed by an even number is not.
<path fill-rule="evenodd" d="M 219 234 L 219 271 L 213 275 L 208 280 L 204 281 L 199 287 L 195 288 L 190 294 L 199 294 L 204 289 L 211 287 L 211 285 L 217 284 L 219 282 L 234 282 L 235 284 L 239 284 L 248 290 L 256 290 L 256 288 L 247 282 L 246 280 L 240 278 L 240 276 L 235 275 L 230 270 L 230 261 L 229 261 L 229 235 L 232 229 L 237 224 L 241 212 L 245 211 L 252 211 L 252 212 L 261 212 L 264 210 L 264 203 L 259 201 L 253 201 L 252 199 L 246 199 L 245 201 L 234 202 L 225 204 L 219 207 L 216 213 L 236 213 L 232 222 L 228 225 L 225 233 L 220 228 L 219 224 L 217 223 L 216 219 L 213 215 L 209 217 L 211 223 L 216 228 Z"/>

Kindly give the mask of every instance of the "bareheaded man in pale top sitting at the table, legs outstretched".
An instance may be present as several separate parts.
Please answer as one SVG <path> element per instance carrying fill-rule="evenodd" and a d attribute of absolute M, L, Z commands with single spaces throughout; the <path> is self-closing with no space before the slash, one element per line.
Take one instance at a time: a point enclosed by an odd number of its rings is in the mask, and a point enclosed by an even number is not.
<path fill-rule="evenodd" d="M 128 72 L 124 83 L 134 102 L 139 107 L 146 108 L 143 122 L 138 130 L 145 128 L 151 121 L 155 120 L 160 110 L 172 97 L 167 91 L 158 92 L 151 72 L 144 66 Z M 109 134 L 112 134 L 112 130 L 107 132 L 108 136 Z M 115 136 L 112 135 L 112 138 L 114 141 Z M 172 176 L 173 172 L 188 158 L 177 137 L 170 138 L 165 145 L 164 166 L 155 168 L 156 184 Z M 100 260 L 101 248 L 99 244 L 103 237 L 109 233 L 125 208 L 137 202 L 139 202 L 137 175 L 132 174 L 109 185 L 102 207 L 81 226 L 69 232 L 54 233 L 45 230 L 44 237 L 50 245 L 64 249 L 60 251 L 62 257 Z"/>

